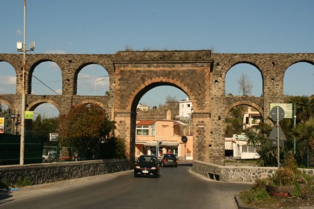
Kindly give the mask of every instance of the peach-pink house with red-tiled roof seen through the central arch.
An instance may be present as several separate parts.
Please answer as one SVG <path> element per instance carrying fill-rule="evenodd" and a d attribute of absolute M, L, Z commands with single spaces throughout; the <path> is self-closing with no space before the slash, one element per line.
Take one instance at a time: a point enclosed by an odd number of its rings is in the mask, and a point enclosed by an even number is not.
<path fill-rule="evenodd" d="M 180 132 L 181 130 L 181 132 Z M 180 134 L 181 133 L 181 134 Z M 136 120 L 135 158 L 140 155 L 158 156 L 171 151 L 179 159 L 193 160 L 193 137 L 187 136 L 184 144 L 182 136 L 189 135 L 186 124 L 175 120 Z"/>

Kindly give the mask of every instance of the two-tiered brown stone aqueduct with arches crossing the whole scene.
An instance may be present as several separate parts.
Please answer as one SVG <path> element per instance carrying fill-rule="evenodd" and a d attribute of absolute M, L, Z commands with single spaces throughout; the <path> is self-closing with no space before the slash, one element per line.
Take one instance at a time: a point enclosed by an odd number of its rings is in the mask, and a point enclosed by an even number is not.
<path fill-rule="evenodd" d="M 16 70 L 16 94 L 0 94 L 0 102 L 21 111 L 23 56 L 0 54 L 0 61 Z M 62 73 L 62 95 L 33 95 L 31 79 L 35 67 L 55 62 Z M 263 118 L 269 115 L 269 103 L 284 102 L 283 78 L 289 66 L 298 62 L 314 64 L 313 53 L 224 54 L 197 51 L 120 51 L 115 54 L 28 54 L 26 62 L 26 110 L 49 102 L 66 113 L 71 105 L 96 103 L 116 121 L 116 134 L 125 139 L 130 161 L 134 160 L 136 105 L 152 88 L 174 86 L 193 103 L 193 158 L 224 164 L 225 116 L 237 105 L 251 105 Z M 263 94 L 225 96 L 225 76 L 239 63 L 260 70 Z M 89 64 L 99 64 L 109 75 L 110 96 L 77 95 L 78 72 Z M 114 112 L 114 115 L 111 113 Z M 267 119 L 266 119 L 267 120 Z"/>

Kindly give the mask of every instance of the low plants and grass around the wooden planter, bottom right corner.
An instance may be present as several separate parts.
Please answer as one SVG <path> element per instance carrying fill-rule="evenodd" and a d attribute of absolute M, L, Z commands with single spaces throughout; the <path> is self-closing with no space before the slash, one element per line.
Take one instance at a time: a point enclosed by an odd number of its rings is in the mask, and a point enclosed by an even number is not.
<path fill-rule="evenodd" d="M 274 196 L 271 188 L 293 189 L 287 196 Z M 284 193 L 283 193 L 284 194 Z M 297 169 L 293 155 L 288 155 L 286 163 L 271 178 L 257 179 L 250 189 L 239 194 L 247 207 L 256 208 L 298 208 L 314 207 L 314 176 Z"/>

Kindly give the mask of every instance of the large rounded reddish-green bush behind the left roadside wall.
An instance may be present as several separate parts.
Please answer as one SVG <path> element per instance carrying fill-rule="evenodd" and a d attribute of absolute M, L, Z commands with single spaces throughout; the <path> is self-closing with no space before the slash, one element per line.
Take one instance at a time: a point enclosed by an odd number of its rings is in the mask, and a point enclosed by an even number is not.
<path fill-rule="evenodd" d="M 123 139 L 114 136 L 115 122 L 94 104 L 72 106 L 58 121 L 59 146 L 66 147 L 70 158 L 87 160 L 125 158 Z"/>

